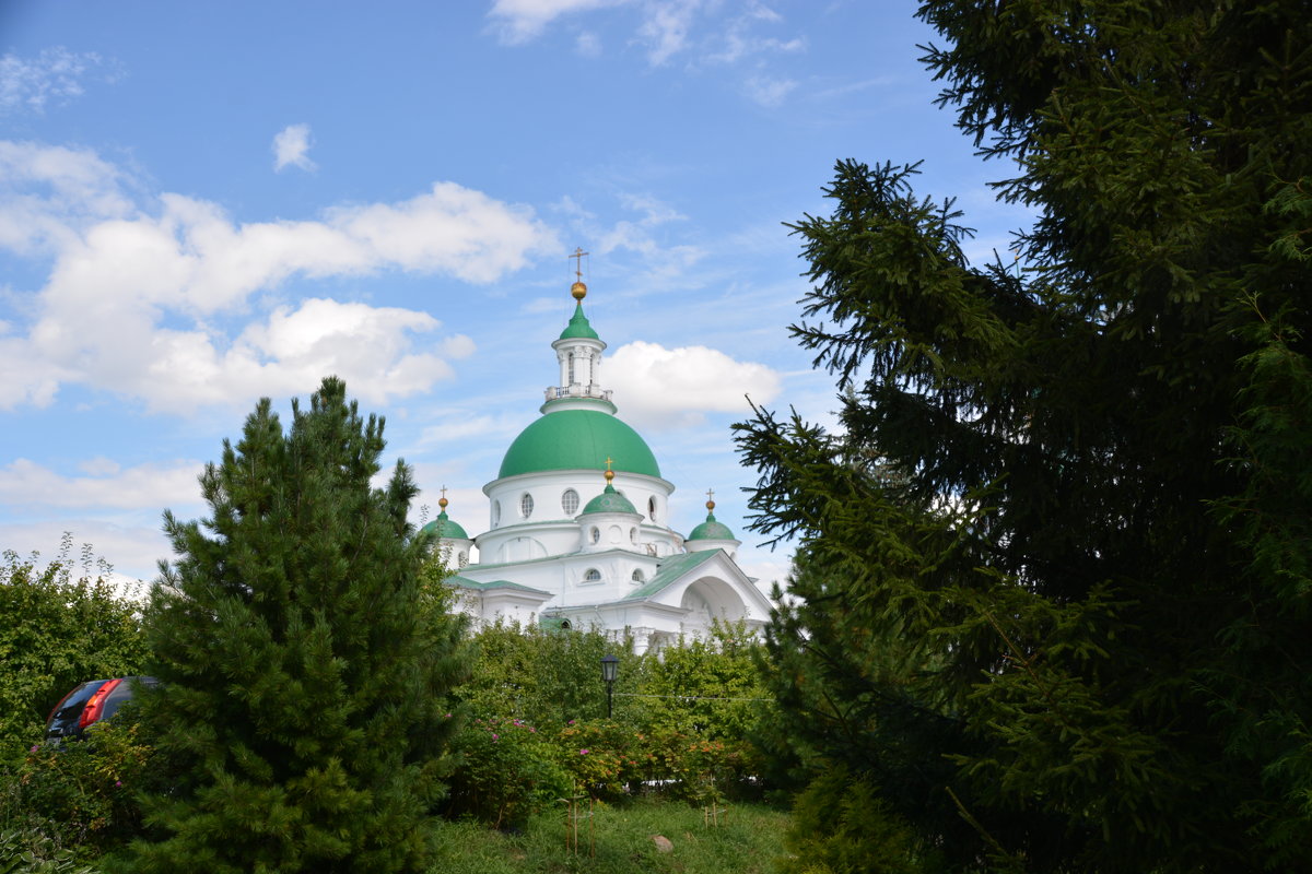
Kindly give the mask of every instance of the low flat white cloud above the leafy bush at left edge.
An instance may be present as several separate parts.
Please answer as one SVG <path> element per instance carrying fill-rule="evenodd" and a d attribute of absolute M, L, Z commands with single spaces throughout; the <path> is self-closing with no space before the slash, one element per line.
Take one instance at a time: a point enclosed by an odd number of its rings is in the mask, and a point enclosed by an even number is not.
<path fill-rule="evenodd" d="M 106 459 L 83 464 L 88 476 L 68 477 L 28 459 L 0 466 L 0 504 L 30 512 L 37 507 L 152 510 L 199 498 L 199 461 L 140 464 L 119 469 Z"/>

